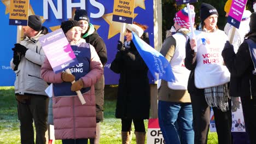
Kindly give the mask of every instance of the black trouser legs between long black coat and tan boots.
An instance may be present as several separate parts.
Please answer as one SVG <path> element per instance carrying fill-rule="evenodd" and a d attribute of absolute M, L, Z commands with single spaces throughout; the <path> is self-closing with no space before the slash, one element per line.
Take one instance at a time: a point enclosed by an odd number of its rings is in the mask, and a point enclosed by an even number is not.
<path fill-rule="evenodd" d="M 133 121 L 135 131 L 137 132 L 146 132 L 144 120 L 143 119 L 127 119 L 122 118 L 122 131 L 131 131 L 131 123 Z"/>

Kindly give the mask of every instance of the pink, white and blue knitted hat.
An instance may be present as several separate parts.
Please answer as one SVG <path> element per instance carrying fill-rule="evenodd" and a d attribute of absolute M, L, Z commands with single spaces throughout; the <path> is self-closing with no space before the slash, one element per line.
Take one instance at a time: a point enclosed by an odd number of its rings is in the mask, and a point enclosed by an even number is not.
<path fill-rule="evenodd" d="M 194 23 L 195 23 L 195 11 L 194 11 L 194 6 L 193 5 L 190 5 L 190 14 L 191 14 L 192 22 L 193 22 L 193 25 L 194 25 Z M 188 16 L 188 8 L 184 7 L 182 10 L 179 10 L 178 13 L 176 13 L 173 20 L 179 26 L 189 29 L 190 23 L 189 23 L 189 16 Z"/>

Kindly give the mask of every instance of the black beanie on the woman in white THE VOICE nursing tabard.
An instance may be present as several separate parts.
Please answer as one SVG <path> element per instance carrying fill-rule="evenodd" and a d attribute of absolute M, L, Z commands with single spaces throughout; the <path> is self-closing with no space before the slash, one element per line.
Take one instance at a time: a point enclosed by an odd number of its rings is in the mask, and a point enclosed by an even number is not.
<path fill-rule="evenodd" d="M 201 10 L 200 10 L 200 19 L 201 22 L 205 21 L 205 19 L 210 15 L 218 15 L 218 11 L 216 8 L 214 8 L 211 4 L 208 3 L 202 3 L 201 4 Z"/>

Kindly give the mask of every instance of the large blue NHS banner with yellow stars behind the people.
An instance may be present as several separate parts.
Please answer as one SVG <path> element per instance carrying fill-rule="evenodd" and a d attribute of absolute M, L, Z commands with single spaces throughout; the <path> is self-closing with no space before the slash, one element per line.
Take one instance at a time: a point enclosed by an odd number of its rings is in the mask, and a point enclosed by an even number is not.
<path fill-rule="evenodd" d="M 49 32 L 60 28 L 61 22 L 72 19 L 76 9 L 88 10 L 90 23 L 97 29 L 98 34 L 107 46 L 108 61 L 104 65 L 105 85 L 117 85 L 119 75 L 110 70 L 110 64 L 117 53 L 117 41 L 123 23 L 112 21 L 114 0 L 30 0 L 29 15 L 39 15 L 43 26 Z M 2 52 L 0 53 L 0 86 L 13 86 L 15 73 L 10 68 L 10 60 L 13 57 L 11 48 L 16 43 L 17 26 L 9 25 L 10 1 L 0 2 L 0 17 L 2 34 Z M 149 28 L 150 45 L 154 47 L 154 9 L 153 1 L 136 0 L 133 21 L 147 25 Z"/>

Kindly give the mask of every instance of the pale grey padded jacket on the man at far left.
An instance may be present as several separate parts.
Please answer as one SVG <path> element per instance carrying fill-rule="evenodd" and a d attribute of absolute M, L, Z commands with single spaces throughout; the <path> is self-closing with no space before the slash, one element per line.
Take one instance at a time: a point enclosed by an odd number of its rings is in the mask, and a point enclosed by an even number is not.
<path fill-rule="evenodd" d="M 21 41 L 21 45 L 27 47 L 26 55 L 21 57 L 18 69 L 15 70 L 16 80 L 14 83 L 15 94 L 38 94 L 46 95 L 44 90 L 48 87 L 47 83 L 40 77 L 40 68 L 44 62 L 45 54 L 38 39 L 44 34 L 40 31 L 36 36 L 26 37 Z M 14 70 L 13 59 L 10 66 Z"/>

